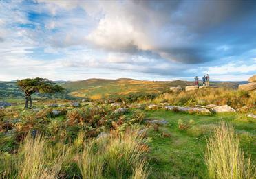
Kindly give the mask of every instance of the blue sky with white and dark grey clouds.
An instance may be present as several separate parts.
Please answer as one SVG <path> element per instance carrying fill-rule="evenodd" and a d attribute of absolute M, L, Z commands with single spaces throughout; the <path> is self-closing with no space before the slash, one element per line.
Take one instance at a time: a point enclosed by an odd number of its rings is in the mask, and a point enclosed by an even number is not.
<path fill-rule="evenodd" d="M 0 1 L 0 81 L 256 73 L 256 1 Z"/>

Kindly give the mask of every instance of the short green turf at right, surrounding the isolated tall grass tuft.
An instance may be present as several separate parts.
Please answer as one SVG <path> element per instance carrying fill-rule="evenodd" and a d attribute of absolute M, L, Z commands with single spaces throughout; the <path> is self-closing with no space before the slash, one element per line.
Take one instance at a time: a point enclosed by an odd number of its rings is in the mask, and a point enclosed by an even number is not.
<path fill-rule="evenodd" d="M 153 165 L 153 174 L 160 178 L 206 178 L 207 170 L 204 163 L 204 151 L 206 149 L 207 133 L 194 136 L 189 130 L 180 130 L 178 120 L 185 123 L 193 120 L 191 126 L 213 126 L 220 121 L 227 121 L 235 126 L 236 132 L 248 132 L 252 139 L 256 139 L 255 123 L 248 121 L 236 121 L 240 114 L 222 115 L 189 115 L 174 113 L 166 110 L 150 110 L 148 117 L 165 119 L 167 126 L 161 126 L 158 131 L 149 130 L 149 137 L 152 138 L 150 160 Z M 200 128 L 198 128 L 200 130 Z M 211 129 L 210 129 L 211 131 Z M 168 133 L 169 137 L 163 137 L 162 133 Z M 256 147 L 252 141 L 244 141 L 242 150 L 252 154 L 252 160 L 256 158 Z"/>

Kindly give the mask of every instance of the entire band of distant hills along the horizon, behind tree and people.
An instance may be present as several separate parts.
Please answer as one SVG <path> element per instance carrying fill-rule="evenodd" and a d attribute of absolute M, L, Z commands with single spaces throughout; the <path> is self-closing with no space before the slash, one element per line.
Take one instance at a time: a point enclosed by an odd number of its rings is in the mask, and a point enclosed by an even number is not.
<path fill-rule="evenodd" d="M 158 94 L 169 91 L 171 86 L 193 85 L 193 82 L 174 80 L 174 81 L 147 81 L 134 80 L 130 78 L 120 78 L 116 80 L 92 78 L 88 80 L 67 82 L 55 81 L 63 86 L 67 93 L 58 95 L 61 97 L 82 97 L 90 99 L 101 99 L 104 97 L 120 97 L 124 95 L 147 95 Z M 239 84 L 246 82 L 212 82 L 213 86 L 224 88 L 237 88 Z M 36 95 L 36 97 L 53 97 L 53 95 Z M 16 82 L 0 82 L 1 97 L 23 97 Z"/>

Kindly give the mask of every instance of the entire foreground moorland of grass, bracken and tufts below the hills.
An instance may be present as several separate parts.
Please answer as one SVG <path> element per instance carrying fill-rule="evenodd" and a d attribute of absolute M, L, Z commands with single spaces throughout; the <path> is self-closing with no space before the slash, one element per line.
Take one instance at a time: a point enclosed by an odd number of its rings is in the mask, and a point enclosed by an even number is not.
<path fill-rule="evenodd" d="M 12 101 L 0 109 L 0 178 L 252 179 L 255 102 L 253 91 L 232 88 L 75 101 L 39 96 L 25 110 Z M 236 112 L 165 108 L 209 104 Z"/>

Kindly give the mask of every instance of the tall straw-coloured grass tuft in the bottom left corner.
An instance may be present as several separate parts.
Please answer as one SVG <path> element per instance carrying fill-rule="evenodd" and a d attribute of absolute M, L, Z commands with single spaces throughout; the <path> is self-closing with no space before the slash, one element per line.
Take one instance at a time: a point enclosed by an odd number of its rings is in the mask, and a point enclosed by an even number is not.
<path fill-rule="evenodd" d="M 54 179 L 61 171 L 64 153 L 60 148 L 52 147 L 44 136 L 29 134 L 15 155 L 10 160 L 1 178 Z"/>

